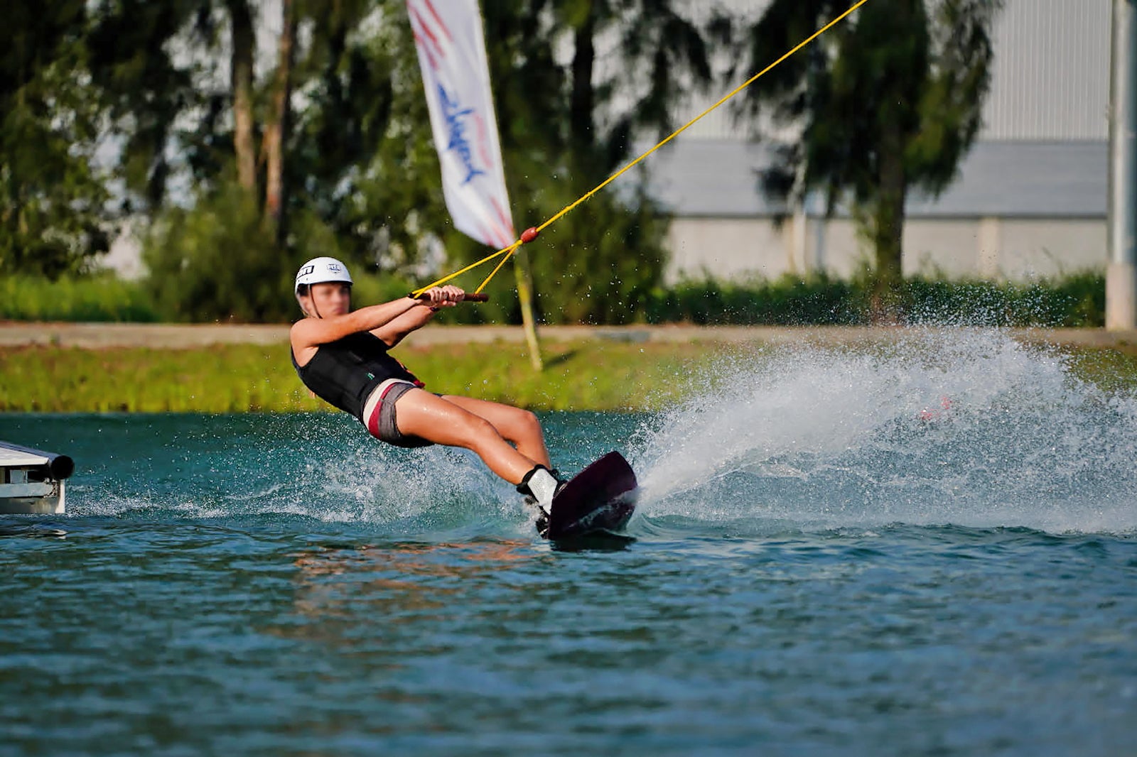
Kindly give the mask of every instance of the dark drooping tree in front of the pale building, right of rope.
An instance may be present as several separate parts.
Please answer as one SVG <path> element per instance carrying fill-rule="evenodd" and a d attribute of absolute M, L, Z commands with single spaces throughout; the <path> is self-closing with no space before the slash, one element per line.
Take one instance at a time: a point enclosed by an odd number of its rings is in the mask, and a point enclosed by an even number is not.
<path fill-rule="evenodd" d="M 745 32 L 745 66 L 764 68 L 847 0 L 773 0 Z M 746 90 L 740 113 L 762 113 L 798 139 L 777 139 L 764 189 L 800 200 L 848 201 L 872 246 L 878 321 L 903 316 L 904 207 L 915 188 L 937 196 L 974 141 L 990 81 L 990 31 L 1003 0 L 869 2 Z"/>

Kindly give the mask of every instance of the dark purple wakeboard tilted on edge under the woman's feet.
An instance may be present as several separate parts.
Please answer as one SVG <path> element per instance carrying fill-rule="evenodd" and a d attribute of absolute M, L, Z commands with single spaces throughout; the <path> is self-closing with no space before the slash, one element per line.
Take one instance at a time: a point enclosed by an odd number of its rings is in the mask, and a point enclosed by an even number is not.
<path fill-rule="evenodd" d="M 608 452 L 578 473 L 553 498 L 550 540 L 615 533 L 636 510 L 636 472 L 620 452 Z"/>

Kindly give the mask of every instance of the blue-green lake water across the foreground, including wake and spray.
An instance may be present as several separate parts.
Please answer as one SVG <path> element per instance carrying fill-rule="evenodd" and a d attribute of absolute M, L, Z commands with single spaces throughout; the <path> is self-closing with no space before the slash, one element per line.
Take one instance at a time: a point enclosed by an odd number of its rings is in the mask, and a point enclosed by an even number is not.
<path fill-rule="evenodd" d="M 608 449 L 562 549 L 471 456 L 342 415 L 0 415 L 0 755 L 1127 755 L 1137 398 L 997 333 L 740 352 Z"/>

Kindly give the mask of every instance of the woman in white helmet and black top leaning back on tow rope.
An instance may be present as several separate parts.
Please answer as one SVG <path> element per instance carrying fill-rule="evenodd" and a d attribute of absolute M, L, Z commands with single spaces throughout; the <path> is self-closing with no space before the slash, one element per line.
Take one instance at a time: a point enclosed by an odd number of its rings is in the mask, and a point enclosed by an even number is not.
<path fill-rule="evenodd" d="M 439 308 L 460 302 L 463 290 L 434 286 L 421 299 L 405 297 L 352 310 L 347 266 L 321 257 L 300 266 L 294 293 L 305 317 L 292 325 L 292 365 L 309 390 L 389 444 L 445 444 L 475 452 L 548 513 L 563 482 L 551 467 L 536 415 L 471 397 L 432 394 L 388 353 Z"/>

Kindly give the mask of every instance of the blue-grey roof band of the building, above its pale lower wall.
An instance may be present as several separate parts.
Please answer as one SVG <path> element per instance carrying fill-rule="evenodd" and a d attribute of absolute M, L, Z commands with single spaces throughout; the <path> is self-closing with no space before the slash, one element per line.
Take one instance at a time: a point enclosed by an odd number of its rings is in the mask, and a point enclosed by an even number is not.
<path fill-rule="evenodd" d="M 758 191 L 767 152 L 738 140 L 675 140 L 648 159 L 649 192 L 679 216 L 771 216 Z M 1109 144 L 979 142 L 938 200 L 913 197 L 912 217 L 1105 217 Z"/>

